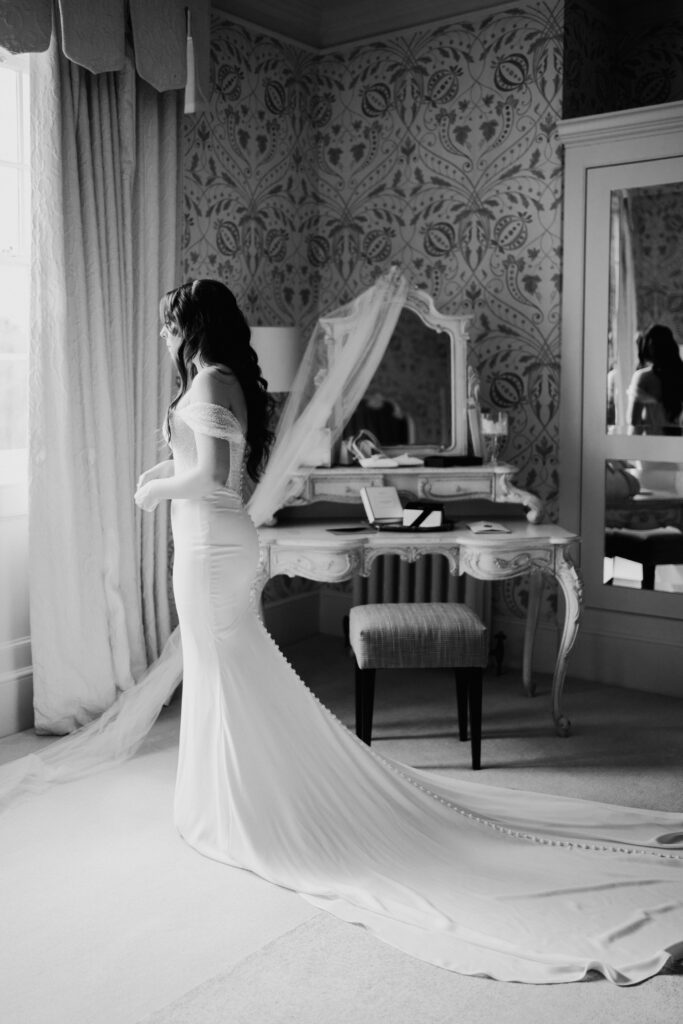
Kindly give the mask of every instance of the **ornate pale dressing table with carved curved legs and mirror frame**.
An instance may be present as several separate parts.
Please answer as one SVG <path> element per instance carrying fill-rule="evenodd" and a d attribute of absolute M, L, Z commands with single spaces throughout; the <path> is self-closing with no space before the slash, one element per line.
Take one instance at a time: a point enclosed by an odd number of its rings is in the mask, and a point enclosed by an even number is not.
<path fill-rule="evenodd" d="M 259 529 L 258 584 L 262 588 L 267 580 L 281 573 L 340 583 L 355 574 L 368 577 L 377 559 L 390 555 L 408 562 L 442 555 L 454 577 L 467 573 L 476 580 L 496 581 L 528 574 L 522 679 L 530 696 L 535 692 L 531 653 L 543 582 L 551 578 L 557 581 L 565 608 L 552 684 L 552 716 L 558 735 L 566 736 L 569 721 L 561 709 L 562 690 L 582 610 L 581 582 L 570 556 L 578 537 L 560 526 L 542 523 L 543 503 L 515 485 L 514 466 L 463 464 L 472 447 L 479 454 L 476 449 L 480 444 L 478 379 L 467 362 L 468 323 L 468 316 L 438 313 L 429 295 L 411 289 L 397 314 L 384 358 L 360 404 L 355 411 L 333 411 L 333 421 L 336 417 L 340 429 L 343 424 L 351 424 L 351 430 L 358 426 L 376 430 L 381 451 L 389 457 L 405 452 L 421 458 L 438 456 L 445 465 L 328 465 L 294 472 L 283 501 L 283 507 L 288 507 L 284 521 Z M 330 341 L 332 350 L 334 338 Z M 391 413 L 392 433 L 386 437 L 372 420 L 373 411 L 378 409 Z M 383 422 L 386 420 L 385 416 Z M 395 430 L 401 429 L 405 433 L 398 437 Z M 462 503 L 465 510 L 473 502 L 485 501 L 498 506 L 493 513 L 497 518 L 506 504 L 522 505 L 526 521 L 504 520 L 508 531 L 485 535 L 467 526 L 438 532 L 383 532 L 368 527 L 338 534 L 331 530 L 348 529 L 348 518 L 339 522 L 306 515 L 297 521 L 297 506 L 317 502 L 345 506 L 340 515 L 348 513 L 350 504 L 356 505 L 360 520 L 359 492 L 364 486 L 394 486 L 401 497 L 450 505 Z"/>

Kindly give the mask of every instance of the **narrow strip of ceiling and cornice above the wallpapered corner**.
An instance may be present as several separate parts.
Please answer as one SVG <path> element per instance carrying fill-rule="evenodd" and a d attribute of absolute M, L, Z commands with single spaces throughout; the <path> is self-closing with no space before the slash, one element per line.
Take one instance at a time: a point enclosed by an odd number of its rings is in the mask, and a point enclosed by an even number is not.
<path fill-rule="evenodd" d="M 316 49 L 446 17 L 509 7 L 511 0 L 211 0 L 231 14 Z M 524 0 L 517 2 L 523 7 Z"/>

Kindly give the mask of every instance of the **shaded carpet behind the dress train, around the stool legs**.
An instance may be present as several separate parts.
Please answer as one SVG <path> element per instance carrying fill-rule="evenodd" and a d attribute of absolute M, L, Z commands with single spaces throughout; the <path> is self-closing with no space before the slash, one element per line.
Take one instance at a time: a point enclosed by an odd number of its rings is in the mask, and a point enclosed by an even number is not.
<path fill-rule="evenodd" d="M 352 727 L 352 667 L 341 642 L 318 637 L 288 656 Z M 469 744 L 457 738 L 452 673 L 378 672 L 373 743 L 397 761 L 483 784 L 683 811 L 683 689 L 679 699 L 570 680 L 563 708 L 571 734 L 562 738 L 553 729 L 550 684 L 541 677 L 529 698 L 517 673 L 486 673 L 482 770 L 472 775 Z"/>

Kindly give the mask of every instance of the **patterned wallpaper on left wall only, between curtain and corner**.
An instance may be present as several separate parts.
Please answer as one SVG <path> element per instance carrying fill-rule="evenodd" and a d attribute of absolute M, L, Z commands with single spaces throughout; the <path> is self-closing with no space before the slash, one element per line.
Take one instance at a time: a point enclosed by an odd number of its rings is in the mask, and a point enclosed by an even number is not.
<path fill-rule="evenodd" d="M 185 118 L 183 265 L 226 282 L 252 324 L 312 324 L 312 54 L 214 17 L 208 112 Z"/>

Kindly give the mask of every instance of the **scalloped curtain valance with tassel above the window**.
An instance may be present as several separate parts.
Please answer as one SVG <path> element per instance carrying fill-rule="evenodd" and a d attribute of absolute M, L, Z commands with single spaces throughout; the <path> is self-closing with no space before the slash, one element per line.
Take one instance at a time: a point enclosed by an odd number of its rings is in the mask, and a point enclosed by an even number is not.
<path fill-rule="evenodd" d="M 46 50 L 53 7 L 65 56 L 95 74 L 123 68 L 130 14 L 137 74 L 160 92 L 185 88 L 189 20 L 197 89 L 208 97 L 210 0 L 0 0 L 0 45 Z"/>

